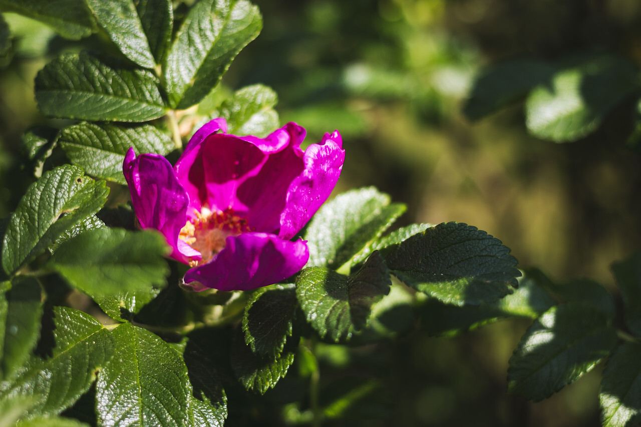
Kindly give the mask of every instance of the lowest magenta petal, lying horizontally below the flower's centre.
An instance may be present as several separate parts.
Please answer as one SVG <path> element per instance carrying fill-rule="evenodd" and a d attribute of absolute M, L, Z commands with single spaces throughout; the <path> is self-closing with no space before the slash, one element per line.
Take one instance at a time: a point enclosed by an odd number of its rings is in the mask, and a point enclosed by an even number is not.
<path fill-rule="evenodd" d="M 269 233 L 228 237 L 226 246 L 206 264 L 187 271 L 194 290 L 249 290 L 272 285 L 300 271 L 310 257 L 303 240 L 281 240 Z"/>

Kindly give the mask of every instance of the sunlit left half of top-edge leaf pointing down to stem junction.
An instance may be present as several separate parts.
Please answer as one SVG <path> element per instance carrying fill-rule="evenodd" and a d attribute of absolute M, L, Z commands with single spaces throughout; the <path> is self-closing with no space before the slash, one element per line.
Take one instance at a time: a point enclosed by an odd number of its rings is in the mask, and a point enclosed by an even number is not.
<path fill-rule="evenodd" d="M 142 67 L 156 67 L 133 0 L 86 1 L 99 26 L 125 56 Z"/>

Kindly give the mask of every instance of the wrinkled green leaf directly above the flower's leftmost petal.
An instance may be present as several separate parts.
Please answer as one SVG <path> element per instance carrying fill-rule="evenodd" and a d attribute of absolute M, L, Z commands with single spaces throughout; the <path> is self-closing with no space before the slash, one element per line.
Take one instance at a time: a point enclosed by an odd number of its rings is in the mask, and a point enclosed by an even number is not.
<path fill-rule="evenodd" d="M 87 174 L 121 184 L 126 184 L 122 159 L 129 147 L 133 147 L 137 155 L 156 153 L 165 156 L 174 149 L 171 138 L 149 124 L 75 124 L 62 130 L 58 144 L 71 163 L 85 169 Z"/>

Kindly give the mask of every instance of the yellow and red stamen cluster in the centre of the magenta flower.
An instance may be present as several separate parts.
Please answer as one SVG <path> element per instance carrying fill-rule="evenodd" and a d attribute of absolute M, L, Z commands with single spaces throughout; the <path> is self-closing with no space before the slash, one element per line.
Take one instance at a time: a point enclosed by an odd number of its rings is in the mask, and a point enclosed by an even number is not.
<path fill-rule="evenodd" d="M 201 212 L 196 212 L 196 218 L 187 221 L 178 237 L 201 253 L 202 260 L 189 263 L 190 267 L 194 267 L 208 262 L 222 251 L 227 237 L 247 231 L 252 231 L 247 220 L 235 215 L 233 209 L 212 212 L 203 208 Z"/>

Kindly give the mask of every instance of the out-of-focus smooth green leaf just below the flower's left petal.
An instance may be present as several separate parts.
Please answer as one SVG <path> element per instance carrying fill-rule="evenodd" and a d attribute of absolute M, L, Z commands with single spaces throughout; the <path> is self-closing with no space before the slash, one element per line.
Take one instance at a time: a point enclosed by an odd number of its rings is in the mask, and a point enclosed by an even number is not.
<path fill-rule="evenodd" d="M 153 292 L 169 274 L 167 244 L 153 230 L 99 228 L 60 244 L 49 267 L 90 296 Z"/>

